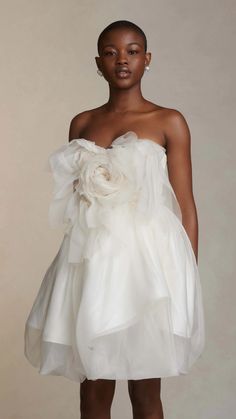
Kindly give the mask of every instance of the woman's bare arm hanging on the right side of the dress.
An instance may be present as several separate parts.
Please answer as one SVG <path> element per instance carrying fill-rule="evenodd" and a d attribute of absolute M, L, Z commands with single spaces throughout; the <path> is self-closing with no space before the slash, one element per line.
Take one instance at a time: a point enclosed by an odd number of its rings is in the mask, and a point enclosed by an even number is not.
<path fill-rule="evenodd" d="M 191 134 L 184 116 L 170 110 L 165 123 L 167 166 L 171 185 L 182 212 L 182 224 L 198 260 L 198 218 L 193 196 Z"/>

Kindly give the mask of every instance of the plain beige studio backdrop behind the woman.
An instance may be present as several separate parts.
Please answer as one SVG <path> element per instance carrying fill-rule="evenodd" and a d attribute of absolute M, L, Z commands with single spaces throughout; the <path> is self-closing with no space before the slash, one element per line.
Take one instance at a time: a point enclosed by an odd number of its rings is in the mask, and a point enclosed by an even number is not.
<path fill-rule="evenodd" d="M 79 384 L 42 377 L 23 355 L 24 323 L 62 234 L 48 225 L 47 156 L 71 118 L 107 100 L 94 56 L 111 21 L 140 25 L 153 54 L 146 98 L 192 133 L 206 348 L 187 376 L 162 379 L 166 419 L 235 417 L 234 0 L 1 1 L 1 418 L 79 418 Z M 5 205 L 7 203 L 7 205 Z M 114 419 L 131 418 L 117 382 Z"/>

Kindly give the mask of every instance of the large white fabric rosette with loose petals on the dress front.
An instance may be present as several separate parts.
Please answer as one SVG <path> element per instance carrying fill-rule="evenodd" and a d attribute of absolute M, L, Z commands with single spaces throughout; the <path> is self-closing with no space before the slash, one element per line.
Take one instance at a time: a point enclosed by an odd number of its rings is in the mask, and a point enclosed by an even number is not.
<path fill-rule="evenodd" d="M 139 194 L 132 154 L 78 139 L 49 162 L 55 181 L 49 217 L 70 236 L 68 261 L 92 258 L 111 238 L 117 250 L 122 248 L 126 232 L 121 226 L 132 217 Z"/>

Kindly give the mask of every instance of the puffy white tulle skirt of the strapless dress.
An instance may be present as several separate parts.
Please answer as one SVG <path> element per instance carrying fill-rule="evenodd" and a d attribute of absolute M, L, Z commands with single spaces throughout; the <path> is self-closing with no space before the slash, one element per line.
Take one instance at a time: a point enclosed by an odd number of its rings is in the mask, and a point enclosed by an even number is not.
<path fill-rule="evenodd" d="M 41 374 L 77 382 L 187 374 L 205 331 L 186 231 L 164 206 L 145 223 L 113 216 L 114 234 L 95 229 L 79 263 L 65 233 L 26 322 L 25 355 Z"/>

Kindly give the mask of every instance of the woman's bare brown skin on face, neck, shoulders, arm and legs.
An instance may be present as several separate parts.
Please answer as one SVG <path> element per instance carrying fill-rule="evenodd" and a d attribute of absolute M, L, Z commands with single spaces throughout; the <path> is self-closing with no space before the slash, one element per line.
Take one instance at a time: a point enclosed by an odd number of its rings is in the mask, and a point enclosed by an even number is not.
<path fill-rule="evenodd" d="M 145 52 L 142 36 L 127 28 L 113 29 L 103 39 L 97 67 L 108 82 L 108 101 L 76 115 L 70 124 L 69 141 L 85 138 L 108 148 L 127 131 L 166 148 L 168 174 L 182 212 L 182 223 L 198 258 L 198 219 L 192 188 L 191 136 L 184 116 L 146 100 L 141 92 L 145 66 L 151 53 Z M 119 78 L 116 70 L 125 65 L 130 73 Z M 128 380 L 134 419 L 162 419 L 161 379 Z M 115 380 L 85 380 L 81 383 L 81 419 L 108 419 Z"/>

